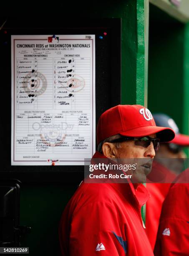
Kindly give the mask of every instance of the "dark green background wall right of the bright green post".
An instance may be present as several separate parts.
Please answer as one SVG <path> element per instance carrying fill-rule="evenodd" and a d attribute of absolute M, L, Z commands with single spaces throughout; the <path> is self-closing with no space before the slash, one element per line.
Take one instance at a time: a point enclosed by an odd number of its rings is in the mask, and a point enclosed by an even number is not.
<path fill-rule="evenodd" d="M 184 24 L 150 5 L 148 107 L 184 128 Z"/>

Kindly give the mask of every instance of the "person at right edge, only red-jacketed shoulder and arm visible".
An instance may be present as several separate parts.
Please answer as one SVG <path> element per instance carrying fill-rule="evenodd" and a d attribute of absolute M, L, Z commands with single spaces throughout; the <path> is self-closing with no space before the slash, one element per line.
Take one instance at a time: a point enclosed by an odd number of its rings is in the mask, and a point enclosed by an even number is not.
<path fill-rule="evenodd" d="M 189 169 L 171 184 L 164 200 L 154 255 L 189 255 Z"/>

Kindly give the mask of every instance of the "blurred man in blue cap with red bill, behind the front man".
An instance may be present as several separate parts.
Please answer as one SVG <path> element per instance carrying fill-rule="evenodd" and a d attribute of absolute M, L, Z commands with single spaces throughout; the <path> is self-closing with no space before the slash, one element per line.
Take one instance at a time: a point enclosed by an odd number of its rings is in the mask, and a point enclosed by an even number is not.
<path fill-rule="evenodd" d="M 159 183 L 146 183 L 146 188 L 149 190 L 151 197 L 146 203 L 145 225 L 147 236 L 154 250 L 161 207 L 169 191 L 171 182 L 182 171 L 183 159 L 186 157 L 183 147 L 189 146 L 189 136 L 179 133 L 176 123 L 168 115 L 159 113 L 154 114 L 153 117 L 156 125 L 169 127 L 175 132 L 175 138 L 172 141 L 161 143 L 159 151 L 154 158 L 150 176 L 152 177 L 154 173 L 161 173 L 162 179 Z"/>

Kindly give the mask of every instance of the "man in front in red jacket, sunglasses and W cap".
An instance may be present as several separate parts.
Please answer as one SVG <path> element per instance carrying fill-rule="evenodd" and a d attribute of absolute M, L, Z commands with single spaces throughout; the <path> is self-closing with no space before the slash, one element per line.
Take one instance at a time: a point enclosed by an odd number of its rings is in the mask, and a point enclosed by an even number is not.
<path fill-rule="evenodd" d="M 153 159 L 159 142 L 170 141 L 174 131 L 157 127 L 141 105 L 118 105 L 106 110 L 97 127 L 95 159 Z M 114 162 L 115 163 L 115 162 Z M 141 218 L 149 198 L 144 182 L 150 166 L 134 173 L 136 183 L 81 183 L 63 212 L 59 227 L 65 256 L 152 256 Z"/>

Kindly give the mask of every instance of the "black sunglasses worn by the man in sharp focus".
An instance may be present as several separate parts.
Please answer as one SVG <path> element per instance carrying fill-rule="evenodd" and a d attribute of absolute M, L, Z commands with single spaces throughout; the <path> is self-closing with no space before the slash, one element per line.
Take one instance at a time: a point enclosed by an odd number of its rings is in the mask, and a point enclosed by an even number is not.
<path fill-rule="evenodd" d="M 141 137 L 141 138 L 137 138 L 137 137 L 121 137 L 118 139 L 115 139 L 113 141 L 109 141 L 110 143 L 114 143 L 114 142 L 123 142 L 123 141 L 134 141 L 134 144 L 136 146 L 142 146 L 144 148 L 147 148 L 148 146 L 150 146 L 151 142 L 154 145 L 154 150 L 157 151 L 159 149 L 159 144 L 160 144 L 160 139 L 159 138 L 151 138 L 149 136 L 146 137 Z"/>

